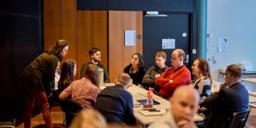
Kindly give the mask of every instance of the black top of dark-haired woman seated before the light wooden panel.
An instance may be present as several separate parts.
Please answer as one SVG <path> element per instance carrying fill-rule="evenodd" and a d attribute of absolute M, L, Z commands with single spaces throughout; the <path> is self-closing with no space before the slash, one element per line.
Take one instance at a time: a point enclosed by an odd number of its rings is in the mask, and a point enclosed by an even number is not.
<path fill-rule="evenodd" d="M 129 76 L 132 78 L 132 83 L 134 85 L 142 85 L 142 79 L 146 73 L 146 68 L 142 67 L 139 68 L 139 71 L 137 71 L 137 73 L 131 73 L 132 64 L 127 65 L 127 67 L 124 68 L 124 73 L 129 74 Z"/>

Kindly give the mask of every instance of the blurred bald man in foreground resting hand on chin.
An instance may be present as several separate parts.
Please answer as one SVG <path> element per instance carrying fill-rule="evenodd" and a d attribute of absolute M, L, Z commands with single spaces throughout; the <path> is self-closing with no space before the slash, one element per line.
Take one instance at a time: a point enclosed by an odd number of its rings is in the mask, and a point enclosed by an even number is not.
<path fill-rule="evenodd" d="M 199 93 L 188 86 L 177 87 L 170 98 L 171 110 L 149 128 L 192 128 L 196 127 L 194 115 L 199 108 Z"/>

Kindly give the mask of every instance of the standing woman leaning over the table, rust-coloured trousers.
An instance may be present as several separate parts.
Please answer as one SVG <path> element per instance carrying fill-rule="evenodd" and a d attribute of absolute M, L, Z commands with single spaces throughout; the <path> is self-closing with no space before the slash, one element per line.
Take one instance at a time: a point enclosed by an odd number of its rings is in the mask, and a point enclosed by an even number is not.
<path fill-rule="evenodd" d="M 31 114 L 34 108 L 34 99 L 39 102 L 41 112 L 44 117 L 46 127 L 53 127 L 51 124 L 51 115 L 47 95 L 51 92 L 50 83 L 54 81 L 54 74 L 58 61 L 67 55 L 69 43 L 65 40 L 59 40 L 54 43 L 51 49 L 46 50 L 33 60 L 23 71 L 21 82 L 26 90 L 25 102 L 26 110 L 24 113 L 24 127 L 31 125 Z"/>

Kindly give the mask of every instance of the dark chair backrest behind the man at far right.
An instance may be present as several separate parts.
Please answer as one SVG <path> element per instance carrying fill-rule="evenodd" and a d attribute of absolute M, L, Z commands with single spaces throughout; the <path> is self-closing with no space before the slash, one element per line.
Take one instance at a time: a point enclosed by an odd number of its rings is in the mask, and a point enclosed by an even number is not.
<path fill-rule="evenodd" d="M 243 128 L 247 121 L 247 117 L 250 114 L 250 108 L 240 112 L 234 112 L 232 118 L 230 119 L 230 128 Z"/>

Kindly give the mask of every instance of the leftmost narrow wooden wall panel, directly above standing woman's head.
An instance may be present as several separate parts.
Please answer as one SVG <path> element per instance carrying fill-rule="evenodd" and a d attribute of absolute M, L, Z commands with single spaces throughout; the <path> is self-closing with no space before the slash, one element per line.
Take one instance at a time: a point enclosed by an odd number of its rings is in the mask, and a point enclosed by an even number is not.
<path fill-rule="evenodd" d="M 60 38 L 60 0 L 44 0 L 44 50 Z"/>

